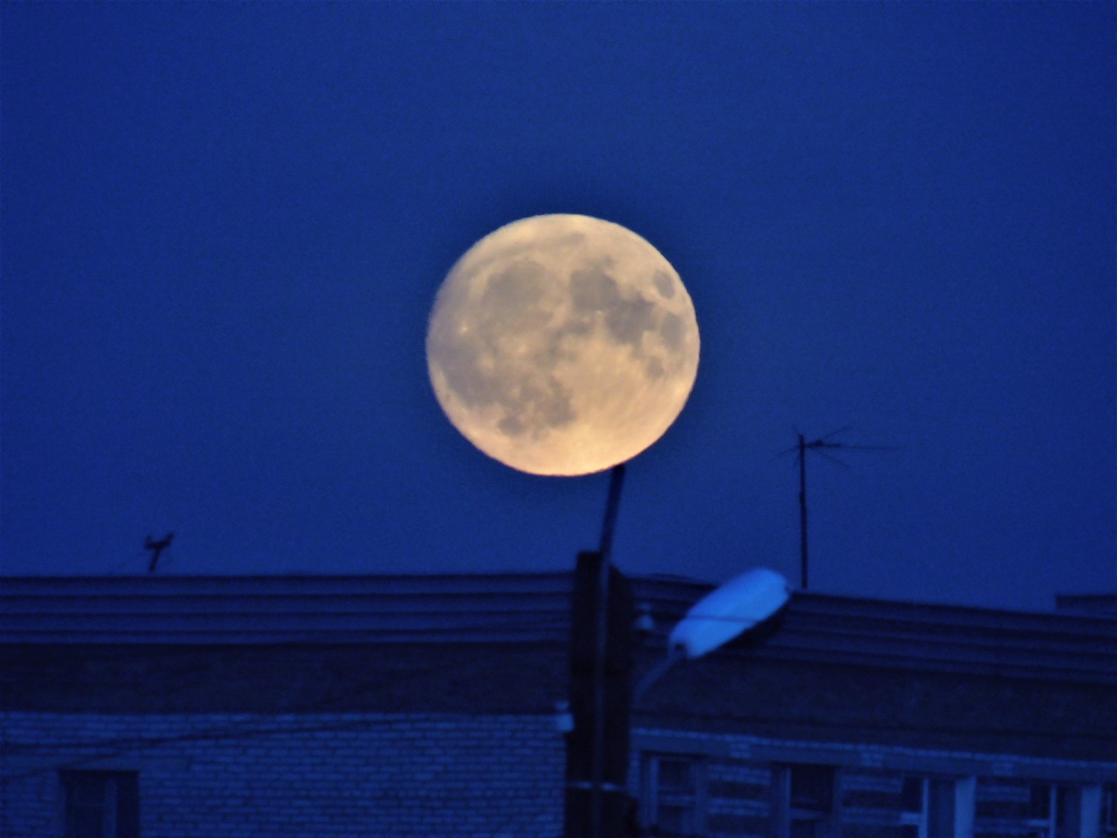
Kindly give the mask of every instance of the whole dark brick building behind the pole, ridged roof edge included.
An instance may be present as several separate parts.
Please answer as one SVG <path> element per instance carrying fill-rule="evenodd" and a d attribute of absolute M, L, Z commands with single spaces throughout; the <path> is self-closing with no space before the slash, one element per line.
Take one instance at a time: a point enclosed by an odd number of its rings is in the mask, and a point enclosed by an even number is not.
<path fill-rule="evenodd" d="M 709 585 L 634 579 L 655 630 Z M 7 579 L 0 834 L 563 831 L 569 574 Z M 646 834 L 1117 836 L 1117 619 L 792 598 L 632 710 Z"/>

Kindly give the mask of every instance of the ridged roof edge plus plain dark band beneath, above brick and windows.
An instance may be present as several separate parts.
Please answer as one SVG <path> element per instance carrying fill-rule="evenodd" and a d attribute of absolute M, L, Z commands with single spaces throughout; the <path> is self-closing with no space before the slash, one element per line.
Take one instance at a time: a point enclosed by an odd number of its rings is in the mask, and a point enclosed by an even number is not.
<path fill-rule="evenodd" d="M 631 580 L 657 630 L 712 585 Z M 567 694 L 572 577 L 2 580 L 0 710 L 529 713 Z M 1117 753 L 1117 620 L 796 593 L 679 665 L 657 729 L 1043 759 Z"/>

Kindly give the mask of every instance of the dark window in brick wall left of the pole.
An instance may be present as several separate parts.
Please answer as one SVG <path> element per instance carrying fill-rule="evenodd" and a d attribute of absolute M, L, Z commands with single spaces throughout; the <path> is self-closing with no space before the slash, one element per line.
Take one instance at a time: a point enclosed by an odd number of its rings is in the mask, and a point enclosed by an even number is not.
<path fill-rule="evenodd" d="M 64 838 L 139 838 L 140 777 L 134 771 L 63 771 Z"/>

